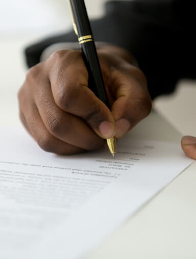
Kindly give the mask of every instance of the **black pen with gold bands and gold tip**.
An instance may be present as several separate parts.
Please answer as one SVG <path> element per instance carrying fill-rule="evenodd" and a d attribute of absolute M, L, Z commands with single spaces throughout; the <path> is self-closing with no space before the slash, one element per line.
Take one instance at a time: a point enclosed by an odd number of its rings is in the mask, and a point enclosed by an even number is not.
<path fill-rule="evenodd" d="M 84 63 L 89 74 L 88 85 L 93 93 L 110 109 L 84 0 L 69 0 L 69 4 L 74 30 L 78 36 Z M 114 157 L 116 153 L 115 137 L 107 139 L 107 145 Z"/>

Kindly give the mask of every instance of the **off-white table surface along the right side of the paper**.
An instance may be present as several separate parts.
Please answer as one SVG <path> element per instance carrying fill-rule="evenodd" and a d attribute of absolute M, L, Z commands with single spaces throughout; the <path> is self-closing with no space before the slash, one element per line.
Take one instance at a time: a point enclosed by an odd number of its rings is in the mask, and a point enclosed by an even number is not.
<path fill-rule="evenodd" d="M 152 112 L 135 137 L 180 144 L 181 135 Z M 86 259 L 195 259 L 196 162 L 186 168 Z"/>

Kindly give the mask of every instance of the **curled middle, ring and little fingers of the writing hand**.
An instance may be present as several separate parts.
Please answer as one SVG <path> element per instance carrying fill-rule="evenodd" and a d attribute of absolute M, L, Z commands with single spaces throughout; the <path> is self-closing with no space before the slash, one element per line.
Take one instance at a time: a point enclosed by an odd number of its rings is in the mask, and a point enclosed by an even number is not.
<path fill-rule="evenodd" d="M 29 71 L 18 93 L 24 127 L 39 146 L 49 152 L 73 154 L 103 147 L 103 138 L 81 118 L 64 112 L 55 104 L 50 82 L 44 77 L 42 67 L 40 73 L 40 67 Z"/>

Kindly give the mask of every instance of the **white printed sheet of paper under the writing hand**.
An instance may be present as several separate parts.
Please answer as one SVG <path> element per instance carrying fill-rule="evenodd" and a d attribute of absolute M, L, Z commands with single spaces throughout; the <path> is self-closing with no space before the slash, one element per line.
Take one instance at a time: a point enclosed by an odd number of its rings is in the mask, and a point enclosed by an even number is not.
<path fill-rule="evenodd" d="M 180 145 L 132 140 L 75 156 L 1 129 L 0 258 L 82 258 L 192 163 Z"/>

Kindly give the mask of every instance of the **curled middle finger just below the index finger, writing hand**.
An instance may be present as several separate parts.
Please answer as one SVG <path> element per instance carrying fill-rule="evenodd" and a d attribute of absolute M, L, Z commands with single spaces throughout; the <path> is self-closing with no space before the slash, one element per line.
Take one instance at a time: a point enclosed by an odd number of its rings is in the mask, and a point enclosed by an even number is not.
<path fill-rule="evenodd" d="M 86 150 L 98 149 L 104 145 L 104 140 L 81 118 L 56 105 L 50 86 L 45 85 L 40 93 L 37 92 L 35 102 L 46 129 L 59 140 Z"/>

